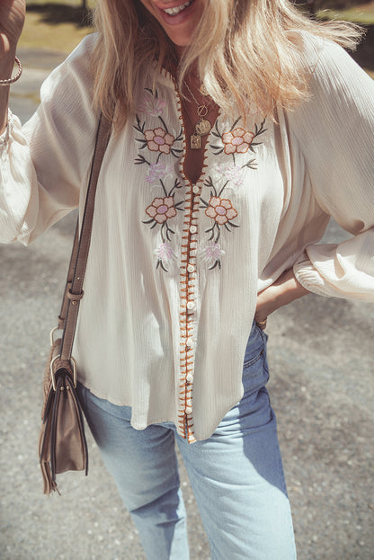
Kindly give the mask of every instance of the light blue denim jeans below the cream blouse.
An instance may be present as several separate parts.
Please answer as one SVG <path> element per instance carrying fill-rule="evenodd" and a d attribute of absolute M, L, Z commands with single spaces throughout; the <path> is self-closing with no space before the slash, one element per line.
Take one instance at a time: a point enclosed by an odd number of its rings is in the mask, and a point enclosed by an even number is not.
<path fill-rule="evenodd" d="M 175 441 L 213 560 L 295 560 L 276 420 L 264 387 L 269 378 L 266 338 L 254 325 L 245 351 L 245 395 L 208 440 L 186 443 L 173 422 L 135 430 L 129 406 L 78 387 L 85 417 L 147 560 L 190 558 Z"/>

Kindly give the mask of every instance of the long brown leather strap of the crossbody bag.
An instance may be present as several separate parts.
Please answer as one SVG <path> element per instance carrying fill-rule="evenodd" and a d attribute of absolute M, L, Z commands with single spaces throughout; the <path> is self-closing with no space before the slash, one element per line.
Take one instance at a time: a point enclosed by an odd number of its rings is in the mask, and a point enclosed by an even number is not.
<path fill-rule="evenodd" d="M 78 317 L 79 303 L 84 296 L 82 287 L 85 280 L 85 266 L 91 242 L 91 232 L 94 218 L 94 198 L 102 166 L 102 159 L 110 137 L 111 120 L 106 119 L 101 114 L 96 133 L 93 163 L 91 165 L 90 179 L 85 198 L 85 212 L 82 219 L 81 233 L 79 236 L 78 218 L 73 250 L 67 272 L 67 284 L 65 287 L 61 311 L 58 316 L 58 328 L 64 328 L 61 342 L 61 360 L 71 359 L 74 335 L 76 333 L 76 320 Z"/>

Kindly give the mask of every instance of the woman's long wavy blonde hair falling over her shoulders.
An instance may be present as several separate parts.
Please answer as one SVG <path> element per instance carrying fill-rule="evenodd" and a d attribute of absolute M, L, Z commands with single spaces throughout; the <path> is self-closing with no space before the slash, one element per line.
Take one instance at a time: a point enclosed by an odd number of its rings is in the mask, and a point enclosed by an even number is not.
<path fill-rule="evenodd" d="M 308 31 L 353 49 L 361 37 L 347 22 L 316 22 L 289 0 L 205 0 L 204 15 L 191 47 L 176 66 L 174 45 L 140 0 L 98 0 L 94 22 L 94 102 L 106 114 L 118 103 L 115 126 L 133 114 L 136 84 L 156 61 L 183 77 L 192 65 L 210 96 L 224 110 L 233 100 L 243 116 L 249 105 L 274 115 L 276 106 L 291 108 L 307 98 L 310 73 L 299 42 L 290 31 Z"/>

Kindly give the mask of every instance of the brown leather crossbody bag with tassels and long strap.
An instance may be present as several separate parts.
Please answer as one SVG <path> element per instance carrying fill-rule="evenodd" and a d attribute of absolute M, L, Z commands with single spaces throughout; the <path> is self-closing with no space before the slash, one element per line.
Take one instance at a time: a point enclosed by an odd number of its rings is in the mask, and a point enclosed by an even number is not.
<path fill-rule="evenodd" d="M 88 453 L 82 408 L 76 394 L 76 362 L 71 355 L 80 300 L 84 296 L 85 265 L 91 241 L 94 198 L 102 159 L 111 136 L 111 121 L 99 120 L 94 157 L 79 235 L 79 220 L 67 272 L 58 326 L 50 333 L 49 360 L 43 380 L 44 404 L 39 438 L 44 493 L 58 490 L 56 475 L 69 470 L 88 472 Z M 55 332 L 62 336 L 54 340 Z"/>

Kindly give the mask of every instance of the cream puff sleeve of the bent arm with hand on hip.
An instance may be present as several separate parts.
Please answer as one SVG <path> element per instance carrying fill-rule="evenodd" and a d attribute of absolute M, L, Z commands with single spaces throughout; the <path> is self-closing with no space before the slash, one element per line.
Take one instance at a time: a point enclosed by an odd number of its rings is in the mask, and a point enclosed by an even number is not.
<path fill-rule="evenodd" d="M 338 45 L 304 40 L 311 98 L 289 122 L 319 206 L 352 238 L 307 245 L 294 271 L 317 294 L 374 301 L 374 81 Z"/>

